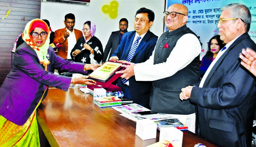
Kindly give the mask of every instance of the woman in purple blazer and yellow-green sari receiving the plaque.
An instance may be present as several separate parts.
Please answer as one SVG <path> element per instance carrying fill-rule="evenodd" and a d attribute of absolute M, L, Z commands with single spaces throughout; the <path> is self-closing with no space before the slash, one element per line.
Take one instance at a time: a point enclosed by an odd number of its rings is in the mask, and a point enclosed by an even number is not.
<path fill-rule="evenodd" d="M 57 56 L 41 19 L 29 21 L 22 38 L 25 42 L 16 49 L 12 70 L 0 87 L 0 146 L 40 146 L 36 109 L 48 86 L 67 91 L 71 83 L 94 84 L 88 76 L 60 76 L 53 74 L 54 69 L 83 74 L 100 66 Z"/>

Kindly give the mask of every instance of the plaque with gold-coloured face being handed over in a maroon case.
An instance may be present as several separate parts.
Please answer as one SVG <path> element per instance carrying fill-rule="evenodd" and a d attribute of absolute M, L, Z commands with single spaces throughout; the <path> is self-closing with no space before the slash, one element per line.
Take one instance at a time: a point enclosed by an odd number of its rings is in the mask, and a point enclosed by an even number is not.
<path fill-rule="evenodd" d="M 116 71 L 123 68 L 121 67 L 122 64 L 124 63 L 107 61 L 101 65 L 101 67 L 92 72 L 88 78 L 99 82 L 106 82 L 115 74 Z"/>

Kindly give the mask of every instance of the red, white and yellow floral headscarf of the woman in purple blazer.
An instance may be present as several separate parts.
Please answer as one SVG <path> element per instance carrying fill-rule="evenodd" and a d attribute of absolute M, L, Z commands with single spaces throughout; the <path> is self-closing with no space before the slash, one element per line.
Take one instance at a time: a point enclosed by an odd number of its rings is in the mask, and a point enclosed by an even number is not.
<path fill-rule="evenodd" d="M 43 46 L 37 47 L 33 41 L 32 36 L 30 35 L 30 32 L 34 30 L 34 28 L 42 28 L 47 32 L 47 39 Z M 40 64 L 43 64 L 46 66 L 50 62 L 46 58 L 47 50 L 49 48 L 50 43 L 50 33 L 49 33 L 49 27 L 48 25 L 42 20 L 42 19 L 33 19 L 27 23 L 25 26 L 25 29 L 22 34 L 22 39 L 35 50 L 35 53 L 37 53 L 37 56 L 40 60 Z"/>

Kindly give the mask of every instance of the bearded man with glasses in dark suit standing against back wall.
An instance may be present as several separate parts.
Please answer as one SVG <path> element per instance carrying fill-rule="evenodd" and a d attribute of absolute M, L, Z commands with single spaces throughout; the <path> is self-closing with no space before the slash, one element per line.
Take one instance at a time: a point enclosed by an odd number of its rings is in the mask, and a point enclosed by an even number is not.
<path fill-rule="evenodd" d="M 127 32 L 127 28 L 128 28 L 128 20 L 126 18 L 120 19 L 119 31 L 112 32 L 109 37 L 109 41 L 106 44 L 106 47 L 104 49 L 104 57 L 102 59 L 102 64 L 104 64 L 104 62 L 108 61 L 108 59 L 109 59 L 108 56 L 111 57 L 112 54 L 115 52 L 118 45 L 120 44 L 123 34 Z M 109 52 L 110 52 L 110 54 L 109 54 Z"/>

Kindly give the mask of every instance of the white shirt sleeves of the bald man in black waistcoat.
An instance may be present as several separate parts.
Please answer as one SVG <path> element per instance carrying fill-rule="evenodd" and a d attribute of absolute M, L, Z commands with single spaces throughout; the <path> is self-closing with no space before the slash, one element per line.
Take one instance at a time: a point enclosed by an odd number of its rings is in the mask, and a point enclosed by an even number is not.
<path fill-rule="evenodd" d="M 143 63 L 134 66 L 135 79 L 153 81 L 174 75 L 185 68 L 201 53 L 201 44 L 194 34 L 183 35 L 176 43 L 166 62 L 154 64 L 154 54 Z"/>

